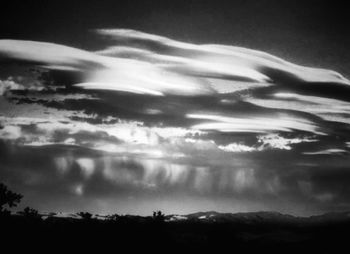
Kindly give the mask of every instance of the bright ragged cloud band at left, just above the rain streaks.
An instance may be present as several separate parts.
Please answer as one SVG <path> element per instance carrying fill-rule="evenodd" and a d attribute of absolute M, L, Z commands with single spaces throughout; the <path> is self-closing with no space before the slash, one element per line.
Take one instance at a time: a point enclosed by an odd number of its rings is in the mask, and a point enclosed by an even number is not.
<path fill-rule="evenodd" d="M 70 119 L 0 117 L 0 124 L 4 126 L 0 129 L 0 138 L 21 146 L 74 145 L 147 157 L 182 156 L 178 146 L 188 137 L 201 135 L 191 129 L 151 128 L 120 120 L 112 124 L 89 124 Z"/>

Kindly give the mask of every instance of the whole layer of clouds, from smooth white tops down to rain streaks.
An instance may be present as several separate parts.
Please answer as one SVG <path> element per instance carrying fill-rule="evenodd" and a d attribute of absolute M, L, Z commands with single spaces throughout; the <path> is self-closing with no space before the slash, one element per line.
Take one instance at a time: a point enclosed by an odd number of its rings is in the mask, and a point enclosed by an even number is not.
<path fill-rule="evenodd" d="M 342 75 L 246 48 L 96 34 L 110 46 L 0 40 L 0 176 L 29 204 L 348 209 Z"/>

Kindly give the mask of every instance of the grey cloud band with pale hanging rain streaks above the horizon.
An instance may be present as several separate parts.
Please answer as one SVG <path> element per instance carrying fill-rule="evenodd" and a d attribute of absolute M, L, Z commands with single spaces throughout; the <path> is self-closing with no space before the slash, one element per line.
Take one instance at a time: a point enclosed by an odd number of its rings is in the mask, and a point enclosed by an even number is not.
<path fill-rule="evenodd" d="M 23 193 L 28 193 L 28 189 L 31 192 L 51 193 L 50 197 L 37 194 L 37 199 L 32 200 L 32 205 L 38 205 L 46 199 L 56 199 L 57 202 L 66 200 L 65 202 L 69 203 L 69 200 L 76 196 L 90 200 L 89 209 L 93 209 L 95 198 L 104 201 L 114 197 L 115 202 L 119 202 L 128 196 L 143 196 L 148 200 L 157 195 L 175 198 L 184 194 L 187 197 L 192 196 L 194 200 L 205 197 L 218 203 L 227 202 L 224 201 L 225 198 L 241 198 L 243 201 L 240 201 L 240 204 L 247 205 L 256 199 L 270 202 L 269 200 L 282 196 L 291 202 L 297 202 L 298 205 L 292 210 L 298 212 L 303 202 L 309 202 L 310 207 L 322 204 L 329 206 L 334 202 L 336 204 L 339 199 L 348 198 L 346 189 L 341 190 L 339 186 L 334 185 L 333 181 L 336 180 L 325 181 L 326 176 L 343 178 L 343 183 L 340 184 L 345 187 L 345 169 L 338 168 L 337 176 L 327 169 L 329 163 L 314 171 L 310 168 L 296 170 L 295 165 L 292 165 L 295 158 L 287 156 L 289 151 L 262 151 L 261 156 L 235 153 L 235 156 L 231 157 L 227 154 L 217 160 L 215 156 L 200 157 L 200 153 L 192 153 L 192 160 L 165 160 L 127 154 L 116 156 L 79 147 L 67 149 L 58 145 L 37 149 L 20 149 L 11 145 L 11 149 L 6 148 L 6 151 L 10 150 L 16 155 L 16 159 L 14 156 L 6 156 L 4 160 L 4 154 L 2 155 L 2 179 L 17 183 L 19 191 Z M 197 156 L 200 158 L 199 164 L 199 158 L 194 158 Z M 318 160 L 319 157 L 307 159 L 309 162 Z M 278 165 L 281 161 L 284 162 L 283 170 L 281 165 Z M 344 162 L 343 159 L 341 163 Z M 299 189 L 298 182 L 309 182 L 310 187 L 303 184 Z M 329 194 L 323 197 L 324 193 Z M 330 195 L 332 199 L 327 199 Z M 26 197 L 29 198 L 28 195 Z M 136 204 L 138 199 L 129 202 Z M 274 202 L 278 203 L 277 200 Z M 279 204 L 282 208 L 283 205 Z M 184 209 L 186 210 L 186 207 Z"/>

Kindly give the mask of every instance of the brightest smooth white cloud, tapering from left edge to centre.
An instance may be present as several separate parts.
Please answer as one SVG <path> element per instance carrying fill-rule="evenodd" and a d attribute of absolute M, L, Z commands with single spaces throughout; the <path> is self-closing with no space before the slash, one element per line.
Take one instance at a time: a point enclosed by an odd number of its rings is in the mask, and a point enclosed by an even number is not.
<path fill-rule="evenodd" d="M 142 61 L 99 56 L 53 43 L 1 40 L 0 55 L 36 63 L 47 69 L 77 72 L 81 82 L 76 85 L 85 89 L 150 95 L 211 93 L 204 81 L 194 77 L 184 77 Z"/>

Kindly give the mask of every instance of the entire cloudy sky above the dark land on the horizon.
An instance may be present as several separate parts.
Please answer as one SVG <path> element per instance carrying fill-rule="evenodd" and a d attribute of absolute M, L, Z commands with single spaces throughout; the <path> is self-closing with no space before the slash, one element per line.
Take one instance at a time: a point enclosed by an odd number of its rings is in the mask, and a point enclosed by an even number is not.
<path fill-rule="evenodd" d="M 337 1 L 11 1 L 0 179 L 40 211 L 350 208 Z"/>

